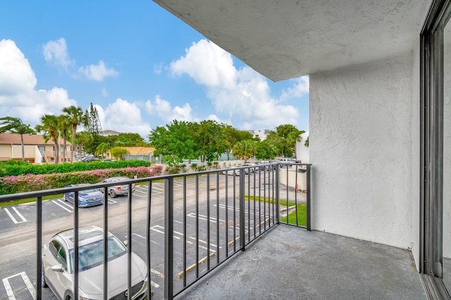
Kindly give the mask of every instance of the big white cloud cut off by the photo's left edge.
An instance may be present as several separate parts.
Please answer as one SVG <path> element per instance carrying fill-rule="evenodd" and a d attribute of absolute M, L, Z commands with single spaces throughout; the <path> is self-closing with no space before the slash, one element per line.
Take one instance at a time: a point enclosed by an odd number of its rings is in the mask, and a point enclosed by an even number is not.
<path fill-rule="evenodd" d="M 45 113 L 61 114 L 61 108 L 76 105 L 65 89 L 36 90 L 36 83 L 30 63 L 16 43 L 0 40 L 0 115 L 36 125 Z"/>

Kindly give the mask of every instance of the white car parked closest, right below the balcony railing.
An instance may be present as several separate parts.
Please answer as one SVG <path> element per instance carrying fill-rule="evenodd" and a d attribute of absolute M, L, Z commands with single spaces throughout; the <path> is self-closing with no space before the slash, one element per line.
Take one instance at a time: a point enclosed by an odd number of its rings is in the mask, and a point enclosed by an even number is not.
<path fill-rule="evenodd" d="M 84 226 L 78 230 L 78 286 L 80 299 L 103 299 L 104 230 Z M 50 287 L 58 299 L 73 299 L 73 230 L 58 232 L 42 246 L 42 287 Z M 108 299 L 128 299 L 128 255 L 126 246 L 108 232 Z M 132 252 L 130 299 L 144 299 L 147 265 Z"/>

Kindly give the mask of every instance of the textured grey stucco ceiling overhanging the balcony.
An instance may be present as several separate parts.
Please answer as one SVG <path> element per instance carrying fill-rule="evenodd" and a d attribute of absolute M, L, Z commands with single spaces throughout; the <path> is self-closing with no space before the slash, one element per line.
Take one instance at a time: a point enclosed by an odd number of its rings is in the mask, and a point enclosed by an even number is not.
<path fill-rule="evenodd" d="M 273 81 L 412 51 L 431 1 L 154 0 Z"/>

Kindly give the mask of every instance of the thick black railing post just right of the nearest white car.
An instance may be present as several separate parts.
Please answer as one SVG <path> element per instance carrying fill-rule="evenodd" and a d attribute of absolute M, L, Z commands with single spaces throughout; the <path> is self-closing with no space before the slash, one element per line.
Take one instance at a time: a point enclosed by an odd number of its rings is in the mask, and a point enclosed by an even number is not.
<path fill-rule="evenodd" d="M 164 180 L 164 299 L 173 299 L 174 178 Z"/>

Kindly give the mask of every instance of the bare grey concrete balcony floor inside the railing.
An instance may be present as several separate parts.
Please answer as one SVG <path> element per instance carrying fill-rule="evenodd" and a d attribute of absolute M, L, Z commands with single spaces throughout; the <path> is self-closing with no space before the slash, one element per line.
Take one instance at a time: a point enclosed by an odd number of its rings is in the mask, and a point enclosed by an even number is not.
<path fill-rule="evenodd" d="M 278 225 L 176 299 L 427 299 L 410 251 Z"/>

